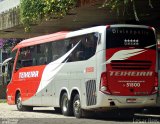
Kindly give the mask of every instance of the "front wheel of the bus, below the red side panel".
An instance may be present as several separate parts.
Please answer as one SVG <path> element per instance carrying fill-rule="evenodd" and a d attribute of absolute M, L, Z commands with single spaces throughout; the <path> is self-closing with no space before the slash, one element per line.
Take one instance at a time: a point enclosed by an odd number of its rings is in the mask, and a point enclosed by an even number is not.
<path fill-rule="evenodd" d="M 16 95 L 16 105 L 17 105 L 17 110 L 18 111 L 32 111 L 33 110 L 33 107 L 31 107 L 31 106 L 22 105 L 22 98 L 21 98 L 20 93 L 18 93 Z"/>

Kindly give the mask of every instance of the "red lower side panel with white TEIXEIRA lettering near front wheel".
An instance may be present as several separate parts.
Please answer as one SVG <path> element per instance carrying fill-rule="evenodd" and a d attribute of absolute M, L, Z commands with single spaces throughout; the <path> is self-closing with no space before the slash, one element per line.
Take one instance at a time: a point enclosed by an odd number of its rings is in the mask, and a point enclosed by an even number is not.
<path fill-rule="evenodd" d="M 24 67 L 14 72 L 12 83 L 9 84 L 9 85 L 13 85 L 12 86 L 13 89 L 8 86 L 9 90 L 14 90 L 14 92 L 11 91 L 12 93 L 15 93 L 12 95 L 15 96 L 16 92 L 19 91 L 22 97 L 23 104 L 32 105 L 33 104 L 32 100 L 29 100 L 29 99 L 35 96 L 37 92 L 44 68 L 45 66 L 35 66 L 32 68 Z M 8 91 L 9 96 L 11 92 Z M 29 100 L 29 101 L 25 103 L 24 101 L 26 100 Z"/>

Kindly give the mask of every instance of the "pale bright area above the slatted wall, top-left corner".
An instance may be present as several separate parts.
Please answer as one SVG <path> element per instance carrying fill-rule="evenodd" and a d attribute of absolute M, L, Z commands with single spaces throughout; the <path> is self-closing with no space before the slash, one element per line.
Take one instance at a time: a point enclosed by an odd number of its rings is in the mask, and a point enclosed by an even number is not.
<path fill-rule="evenodd" d="M 19 6 L 20 0 L 0 0 L 0 13 Z"/>

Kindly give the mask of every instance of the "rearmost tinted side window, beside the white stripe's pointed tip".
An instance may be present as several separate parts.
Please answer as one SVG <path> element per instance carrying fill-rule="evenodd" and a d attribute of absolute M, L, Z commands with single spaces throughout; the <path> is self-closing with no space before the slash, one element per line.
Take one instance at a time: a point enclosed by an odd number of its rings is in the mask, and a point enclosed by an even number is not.
<path fill-rule="evenodd" d="M 83 61 L 91 58 L 96 52 L 97 40 L 97 33 L 71 38 L 69 49 L 73 48 L 76 44 L 79 44 L 69 56 L 69 62 Z"/>

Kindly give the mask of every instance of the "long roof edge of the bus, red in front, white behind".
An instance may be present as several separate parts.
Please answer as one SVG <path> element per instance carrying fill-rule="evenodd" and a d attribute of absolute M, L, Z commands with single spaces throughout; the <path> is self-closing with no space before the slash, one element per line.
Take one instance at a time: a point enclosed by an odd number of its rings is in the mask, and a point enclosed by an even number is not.
<path fill-rule="evenodd" d="M 108 25 L 106 25 L 108 26 Z M 70 34 L 75 35 L 75 34 L 85 34 L 85 32 L 91 32 L 94 29 L 96 30 L 100 30 L 102 28 L 105 28 L 106 26 L 95 26 L 92 28 L 85 28 L 82 30 L 77 30 L 77 31 L 73 31 L 71 34 L 68 31 L 62 31 L 62 32 L 57 32 L 57 33 L 53 33 L 53 34 L 48 34 L 48 35 L 43 35 L 43 36 L 38 36 L 38 37 L 34 37 L 34 38 L 30 38 L 30 39 L 26 39 L 21 41 L 19 44 L 17 44 L 12 51 L 14 51 L 15 49 L 19 49 L 19 48 L 23 48 L 23 47 L 27 47 L 27 46 L 33 46 L 33 45 L 37 45 L 37 44 L 41 44 L 41 43 L 46 43 L 46 42 L 52 42 L 52 41 L 56 41 L 56 40 L 61 40 L 61 39 L 65 39 L 66 37 L 68 37 L 67 35 Z M 111 27 L 138 27 L 138 28 L 149 28 L 149 26 L 144 26 L 144 25 L 131 25 L 131 24 L 114 24 L 114 25 L 109 25 Z"/>

